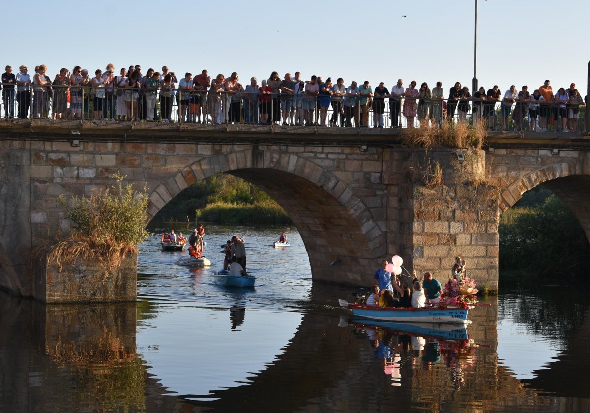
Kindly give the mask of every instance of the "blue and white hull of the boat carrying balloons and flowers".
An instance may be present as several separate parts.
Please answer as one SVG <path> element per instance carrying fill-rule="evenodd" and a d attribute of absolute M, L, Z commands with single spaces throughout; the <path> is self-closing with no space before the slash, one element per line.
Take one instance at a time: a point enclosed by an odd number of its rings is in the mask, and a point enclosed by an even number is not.
<path fill-rule="evenodd" d="M 421 309 L 378 308 L 372 306 L 351 305 L 355 319 L 379 320 L 383 322 L 418 322 L 418 323 L 467 323 L 467 309 L 424 307 Z"/>

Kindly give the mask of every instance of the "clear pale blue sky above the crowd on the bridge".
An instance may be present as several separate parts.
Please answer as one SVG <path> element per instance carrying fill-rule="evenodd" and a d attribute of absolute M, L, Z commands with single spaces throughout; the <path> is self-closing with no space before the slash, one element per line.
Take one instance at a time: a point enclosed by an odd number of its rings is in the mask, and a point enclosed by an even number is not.
<path fill-rule="evenodd" d="M 445 97 L 459 81 L 472 89 L 476 0 L 358 1 L 143 0 L 133 5 L 33 0 L 4 19 L 16 40 L 1 67 L 47 65 L 52 78 L 75 65 L 91 74 L 113 63 L 161 70 L 180 78 L 206 68 L 211 77 L 236 71 L 242 84 L 271 72 L 342 77 L 345 84 L 398 78 L 407 86 L 442 81 Z M 404 17 L 405 16 L 405 17 Z M 548 78 L 555 91 L 573 82 L 586 94 L 589 0 L 478 0 L 477 78 L 502 92 Z M 180 76 L 179 76 L 180 74 Z M 472 91 L 473 92 L 473 91 Z"/>

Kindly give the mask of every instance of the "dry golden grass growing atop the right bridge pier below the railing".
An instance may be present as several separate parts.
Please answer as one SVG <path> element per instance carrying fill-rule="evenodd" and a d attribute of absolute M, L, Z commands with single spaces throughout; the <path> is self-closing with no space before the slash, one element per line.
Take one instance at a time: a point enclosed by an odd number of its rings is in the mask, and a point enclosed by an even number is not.
<path fill-rule="evenodd" d="M 413 148 L 475 148 L 481 149 L 487 133 L 485 124 L 480 122 L 477 126 L 468 125 L 465 122 L 453 124 L 444 122 L 441 126 L 422 126 L 402 130 L 404 143 Z"/>

